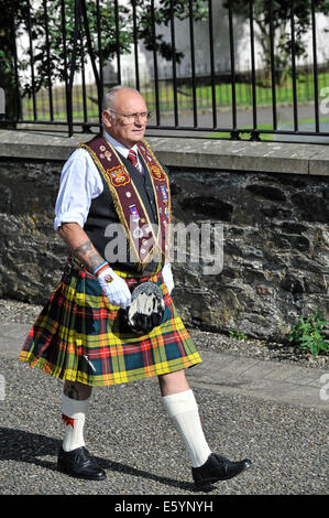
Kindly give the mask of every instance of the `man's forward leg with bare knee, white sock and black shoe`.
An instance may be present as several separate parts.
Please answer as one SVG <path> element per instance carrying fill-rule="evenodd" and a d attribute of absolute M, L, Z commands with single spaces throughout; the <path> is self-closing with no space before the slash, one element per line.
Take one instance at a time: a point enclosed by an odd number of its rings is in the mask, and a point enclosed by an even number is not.
<path fill-rule="evenodd" d="M 251 462 L 231 462 L 211 453 L 204 435 L 198 406 L 185 377 L 185 370 L 158 376 L 163 406 L 175 423 L 191 462 L 191 474 L 199 488 L 209 484 L 232 478 L 246 470 Z"/>

